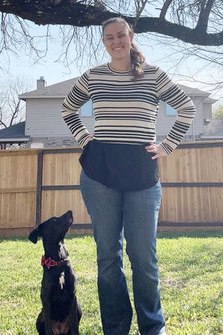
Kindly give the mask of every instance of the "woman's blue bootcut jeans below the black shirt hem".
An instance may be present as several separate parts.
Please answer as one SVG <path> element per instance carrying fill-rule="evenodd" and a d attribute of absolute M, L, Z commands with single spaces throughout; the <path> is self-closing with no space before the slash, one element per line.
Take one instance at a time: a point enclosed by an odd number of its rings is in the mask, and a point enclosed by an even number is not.
<path fill-rule="evenodd" d="M 123 231 L 131 262 L 134 306 L 141 335 L 164 331 L 156 258 L 160 181 L 143 191 L 119 191 L 80 177 L 97 245 L 98 295 L 105 335 L 128 335 L 132 306 L 123 271 Z M 161 329 L 161 330 L 160 330 Z"/>

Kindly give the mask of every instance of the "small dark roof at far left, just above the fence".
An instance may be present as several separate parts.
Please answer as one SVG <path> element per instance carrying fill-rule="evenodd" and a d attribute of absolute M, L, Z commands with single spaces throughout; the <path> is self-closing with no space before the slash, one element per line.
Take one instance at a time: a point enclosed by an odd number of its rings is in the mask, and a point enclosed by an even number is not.
<path fill-rule="evenodd" d="M 25 121 L 0 130 L 0 142 L 27 142 L 30 137 L 24 135 Z"/>

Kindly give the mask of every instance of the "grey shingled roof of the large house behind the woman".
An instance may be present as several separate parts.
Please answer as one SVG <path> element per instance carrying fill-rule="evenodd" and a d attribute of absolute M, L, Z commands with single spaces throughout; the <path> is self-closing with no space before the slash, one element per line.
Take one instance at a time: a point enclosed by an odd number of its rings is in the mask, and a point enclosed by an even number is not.
<path fill-rule="evenodd" d="M 24 101 L 28 98 L 65 98 L 70 89 L 72 89 L 72 86 L 75 84 L 75 81 L 78 77 L 65 80 L 64 82 L 58 82 L 53 85 L 49 85 L 45 87 L 44 89 L 36 89 L 34 91 L 25 92 L 24 94 L 20 94 L 20 98 Z M 189 96 L 203 96 L 203 98 L 208 98 L 210 96 L 209 92 L 201 91 L 201 89 L 197 89 L 194 87 L 188 87 L 185 85 L 179 84 L 179 86 L 189 95 Z M 205 100 L 206 100 L 205 98 Z M 208 98 L 209 103 L 214 103 L 215 99 L 213 101 L 210 101 L 212 98 Z"/>

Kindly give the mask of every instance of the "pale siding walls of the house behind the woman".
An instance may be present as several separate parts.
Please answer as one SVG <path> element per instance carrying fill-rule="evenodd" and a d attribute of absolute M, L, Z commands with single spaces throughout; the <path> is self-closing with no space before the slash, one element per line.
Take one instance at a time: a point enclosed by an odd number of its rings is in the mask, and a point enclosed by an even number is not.
<path fill-rule="evenodd" d="M 203 103 L 205 96 L 194 96 L 192 101 L 197 109 L 193 124 L 183 141 L 199 140 L 203 134 L 203 119 L 208 118 L 211 103 Z M 61 117 L 63 98 L 27 98 L 25 135 L 31 136 L 32 142 L 43 142 L 44 147 L 65 147 L 77 145 L 68 127 Z M 94 117 L 82 116 L 89 133 L 94 132 Z M 174 124 L 175 116 L 167 116 L 165 103 L 160 102 L 157 115 L 157 141 L 163 140 Z"/>

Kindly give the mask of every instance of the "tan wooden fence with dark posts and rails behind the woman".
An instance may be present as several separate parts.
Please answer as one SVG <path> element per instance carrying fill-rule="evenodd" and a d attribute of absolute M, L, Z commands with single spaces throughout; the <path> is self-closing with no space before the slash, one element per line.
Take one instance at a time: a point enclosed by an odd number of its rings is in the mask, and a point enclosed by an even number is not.
<path fill-rule="evenodd" d="M 74 212 L 72 232 L 91 232 L 79 189 L 82 149 L 0 151 L 0 236 L 26 235 Z M 160 230 L 223 228 L 223 141 L 180 144 L 161 158 Z"/>

